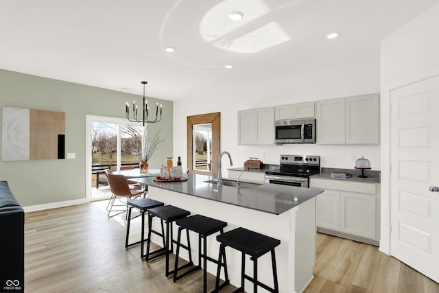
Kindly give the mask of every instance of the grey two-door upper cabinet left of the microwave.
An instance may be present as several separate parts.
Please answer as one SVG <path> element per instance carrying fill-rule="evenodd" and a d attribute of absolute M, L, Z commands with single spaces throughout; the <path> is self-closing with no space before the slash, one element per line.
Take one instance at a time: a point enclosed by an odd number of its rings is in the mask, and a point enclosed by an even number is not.
<path fill-rule="evenodd" d="M 238 144 L 274 144 L 273 107 L 238 111 Z"/>

